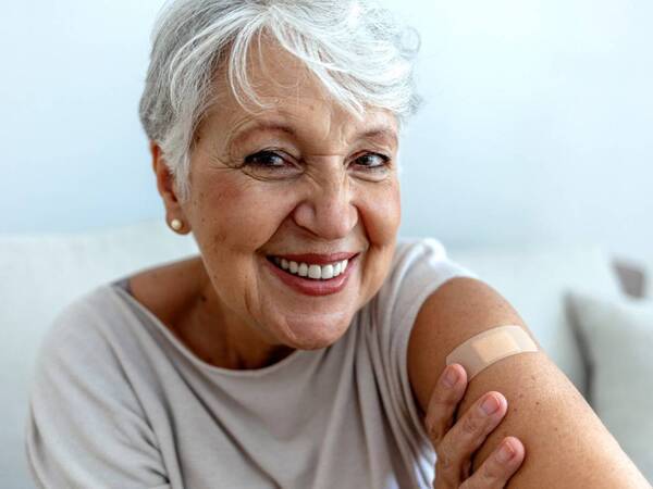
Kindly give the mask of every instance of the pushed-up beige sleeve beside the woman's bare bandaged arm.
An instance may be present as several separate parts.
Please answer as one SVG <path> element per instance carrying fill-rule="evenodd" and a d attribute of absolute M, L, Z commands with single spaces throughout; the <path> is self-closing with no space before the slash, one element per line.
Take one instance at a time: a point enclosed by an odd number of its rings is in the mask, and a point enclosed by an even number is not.
<path fill-rule="evenodd" d="M 374 368 L 384 385 L 389 411 L 402 430 L 407 449 L 422 459 L 422 477 L 432 477 L 435 454 L 408 379 L 407 350 L 410 331 L 424 301 L 454 277 L 479 278 L 448 259 L 435 239 L 399 242 L 392 269 L 374 299 L 373 340 L 378 358 Z"/>

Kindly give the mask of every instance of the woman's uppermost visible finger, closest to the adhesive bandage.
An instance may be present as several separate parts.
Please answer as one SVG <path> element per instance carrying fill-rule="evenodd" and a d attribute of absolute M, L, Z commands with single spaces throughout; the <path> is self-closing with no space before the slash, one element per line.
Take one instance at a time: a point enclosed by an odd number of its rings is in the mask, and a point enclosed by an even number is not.
<path fill-rule="evenodd" d="M 436 447 L 452 427 L 458 403 L 467 389 L 467 373 L 465 368 L 454 363 L 448 365 L 433 388 L 424 425 L 429 438 Z"/>

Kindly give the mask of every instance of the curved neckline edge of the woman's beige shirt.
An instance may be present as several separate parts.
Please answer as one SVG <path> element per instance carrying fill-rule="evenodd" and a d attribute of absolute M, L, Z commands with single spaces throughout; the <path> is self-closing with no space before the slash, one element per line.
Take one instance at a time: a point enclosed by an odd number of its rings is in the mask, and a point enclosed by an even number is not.
<path fill-rule="evenodd" d="M 319 353 L 322 351 L 322 350 L 308 351 L 308 350 L 297 349 L 294 352 L 292 352 L 289 355 L 287 355 L 285 359 L 276 362 L 272 365 L 262 367 L 262 368 L 236 371 L 236 369 L 232 369 L 232 368 L 218 367 L 215 365 L 211 365 L 211 364 L 205 362 L 199 356 L 197 356 L 195 353 L 193 353 L 193 351 L 190 351 L 190 349 L 188 349 L 188 347 L 186 347 L 182 341 L 180 341 L 180 339 L 176 336 L 174 336 L 170 329 L 168 329 L 168 326 L 165 326 L 161 322 L 161 319 L 159 319 L 159 317 L 157 317 L 149 309 L 147 309 L 145 305 L 143 305 L 139 301 L 137 301 L 136 298 L 134 296 L 132 296 L 130 292 L 124 290 L 118 284 L 110 284 L 108 287 L 111 290 L 111 292 L 113 293 L 114 298 L 118 298 L 119 300 L 128 303 L 131 306 L 135 308 L 137 311 L 143 313 L 150 321 L 150 323 L 156 327 L 156 329 L 158 329 L 177 349 L 177 351 L 180 351 L 181 354 L 186 356 L 190 362 L 196 364 L 199 368 L 208 371 L 209 373 L 211 373 L 213 375 L 222 375 L 222 376 L 227 376 L 227 377 L 241 377 L 241 378 L 243 378 L 243 377 L 250 377 L 250 378 L 263 377 L 267 375 L 272 375 L 275 372 L 286 367 L 287 365 L 294 363 L 295 360 L 298 358 L 301 358 L 301 356 L 305 356 L 305 355 L 308 355 L 311 353 L 316 354 L 316 353 Z"/>

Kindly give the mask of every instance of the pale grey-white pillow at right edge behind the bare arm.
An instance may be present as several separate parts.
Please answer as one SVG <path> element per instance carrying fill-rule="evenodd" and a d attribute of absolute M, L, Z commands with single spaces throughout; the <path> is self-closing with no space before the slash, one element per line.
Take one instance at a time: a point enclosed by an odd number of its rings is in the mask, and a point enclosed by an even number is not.
<path fill-rule="evenodd" d="M 653 301 L 566 299 L 589 364 L 589 402 L 653 481 Z"/>

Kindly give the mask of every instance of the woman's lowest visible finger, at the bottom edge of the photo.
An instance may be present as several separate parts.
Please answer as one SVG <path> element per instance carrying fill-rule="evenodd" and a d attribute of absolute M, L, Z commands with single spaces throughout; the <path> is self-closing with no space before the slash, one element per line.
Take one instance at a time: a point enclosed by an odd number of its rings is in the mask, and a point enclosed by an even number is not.
<path fill-rule="evenodd" d="M 460 489 L 503 488 L 521 466 L 525 457 L 526 449 L 521 441 L 515 437 L 506 437 L 477 472 L 460 485 Z"/>

